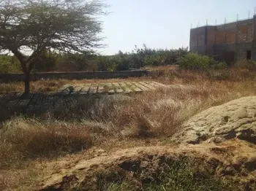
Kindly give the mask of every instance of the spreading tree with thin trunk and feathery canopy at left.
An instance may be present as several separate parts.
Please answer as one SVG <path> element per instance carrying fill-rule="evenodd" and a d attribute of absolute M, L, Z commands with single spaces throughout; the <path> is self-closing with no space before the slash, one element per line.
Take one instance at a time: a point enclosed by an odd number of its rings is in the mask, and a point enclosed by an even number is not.
<path fill-rule="evenodd" d="M 0 0 L 0 50 L 21 64 L 25 93 L 34 58 L 42 51 L 92 52 L 101 47 L 106 5 L 92 0 Z"/>

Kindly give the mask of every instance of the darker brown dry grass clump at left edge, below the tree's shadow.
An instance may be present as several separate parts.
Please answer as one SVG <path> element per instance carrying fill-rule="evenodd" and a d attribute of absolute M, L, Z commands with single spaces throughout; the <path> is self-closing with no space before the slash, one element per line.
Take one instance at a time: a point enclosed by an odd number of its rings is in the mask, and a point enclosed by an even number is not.
<path fill-rule="evenodd" d="M 91 147 L 86 126 L 17 117 L 0 128 L 0 168 L 15 168 L 26 159 L 56 157 Z"/>

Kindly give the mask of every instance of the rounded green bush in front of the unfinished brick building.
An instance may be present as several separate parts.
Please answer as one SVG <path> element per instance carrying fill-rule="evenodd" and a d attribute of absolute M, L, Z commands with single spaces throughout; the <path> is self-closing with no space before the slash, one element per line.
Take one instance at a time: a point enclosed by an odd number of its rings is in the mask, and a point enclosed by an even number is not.
<path fill-rule="evenodd" d="M 226 63 L 219 63 L 214 58 L 195 53 L 183 55 L 177 61 L 181 69 L 189 70 L 225 69 L 227 67 Z"/>

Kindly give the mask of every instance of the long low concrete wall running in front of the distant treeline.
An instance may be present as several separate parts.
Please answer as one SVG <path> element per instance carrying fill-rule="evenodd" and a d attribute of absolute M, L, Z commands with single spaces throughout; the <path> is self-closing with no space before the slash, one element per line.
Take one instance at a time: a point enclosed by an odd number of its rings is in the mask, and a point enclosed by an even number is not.
<path fill-rule="evenodd" d="M 143 77 L 148 74 L 146 70 L 132 71 L 95 71 L 95 72 L 44 72 L 30 74 L 31 81 L 39 79 L 110 79 L 110 78 L 127 78 Z M 4 82 L 23 81 L 24 74 L 1 74 L 0 79 Z"/>

